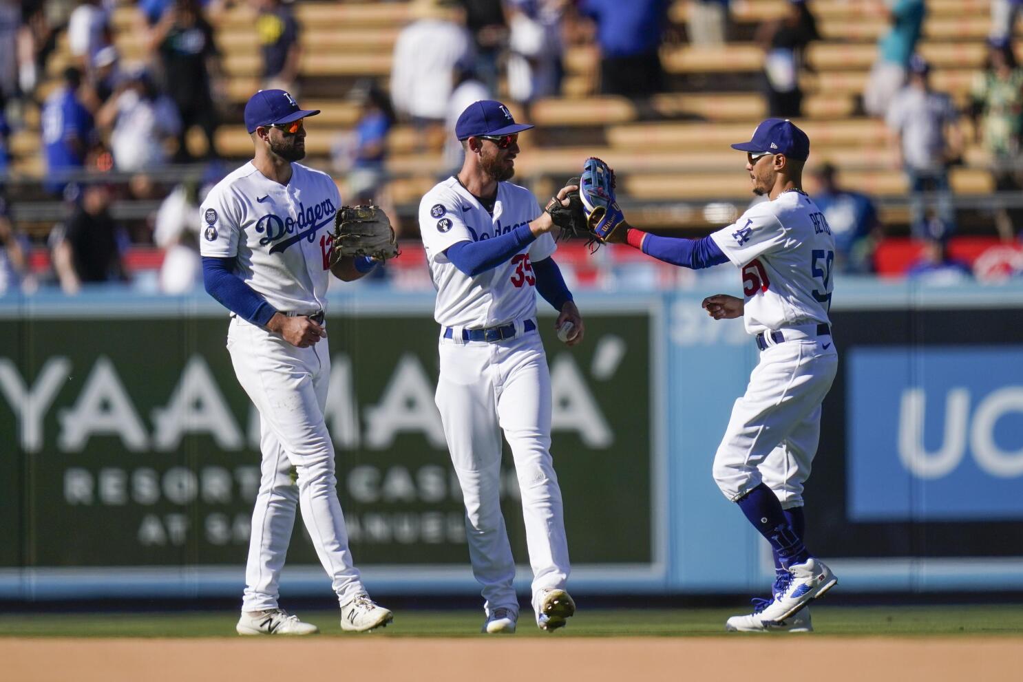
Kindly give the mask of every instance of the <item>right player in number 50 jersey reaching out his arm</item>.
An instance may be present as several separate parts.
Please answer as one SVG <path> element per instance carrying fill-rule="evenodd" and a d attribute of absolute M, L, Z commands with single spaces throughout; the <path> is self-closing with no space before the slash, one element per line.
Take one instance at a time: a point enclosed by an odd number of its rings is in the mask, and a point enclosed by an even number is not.
<path fill-rule="evenodd" d="M 753 191 L 769 200 L 703 239 L 619 230 L 632 246 L 690 268 L 732 263 L 744 298 L 716 294 L 703 307 L 716 320 L 745 318 L 760 362 L 736 401 L 714 457 L 714 480 L 770 543 L 776 579 L 770 599 L 749 616 L 728 619 L 730 631 L 812 630 L 806 605 L 838 581 L 803 544 L 803 484 L 820 435 L 820 404 L 838 369 L 828 311 L 835 239 L 824 214 L 802 188 L 810 152 L 790 121 L 768 119 L 749 142 Z"/>

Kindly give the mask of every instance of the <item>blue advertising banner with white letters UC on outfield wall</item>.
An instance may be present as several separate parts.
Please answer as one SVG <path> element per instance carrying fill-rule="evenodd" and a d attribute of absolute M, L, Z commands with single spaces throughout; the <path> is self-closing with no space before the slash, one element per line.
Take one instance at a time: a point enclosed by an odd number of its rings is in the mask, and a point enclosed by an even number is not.
<path fill-rule="evenodd" d="M 846 355 L 851 520 L 1023 519 L 1023 347 Z"/>

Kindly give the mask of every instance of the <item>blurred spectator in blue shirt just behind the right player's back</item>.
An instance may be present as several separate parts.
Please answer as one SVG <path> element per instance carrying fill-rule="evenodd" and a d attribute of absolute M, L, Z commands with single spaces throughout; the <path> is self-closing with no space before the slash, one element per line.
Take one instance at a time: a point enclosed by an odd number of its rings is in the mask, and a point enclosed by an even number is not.
<path fill-rule="evenodd" d="M 866 194 L 839 187 L 835 173 L 831 164 L 820 166 L 813 174 L 817 187 L 812 194 L 835 237 L 835 268 L 873 272 L 874 252 L 883 236 L 878 211 Z"/>

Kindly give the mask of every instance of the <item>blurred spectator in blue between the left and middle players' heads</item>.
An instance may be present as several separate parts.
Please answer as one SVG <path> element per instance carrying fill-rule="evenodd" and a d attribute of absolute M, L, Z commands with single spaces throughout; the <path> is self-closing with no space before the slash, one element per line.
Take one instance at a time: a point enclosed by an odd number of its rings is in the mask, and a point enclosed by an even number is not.
<path fill-rule="evenodd" d="M 352 97 L 359 103 L 359 120 L 352 131 L 346 173 L 350 203 L 380 203 L 387 183 L 387 136 L 394 126 L 394 109 L 373 81 L 359 84 Z"/>

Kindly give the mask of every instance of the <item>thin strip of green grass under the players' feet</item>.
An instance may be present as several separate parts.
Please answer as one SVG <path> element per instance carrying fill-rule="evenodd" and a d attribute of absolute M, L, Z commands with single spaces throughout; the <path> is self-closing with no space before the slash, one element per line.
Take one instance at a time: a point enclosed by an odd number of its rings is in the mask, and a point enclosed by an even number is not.
<path fill-rule="evenodd" d="M 723 632 L 737 609 L 581 609 L 565 630 L 542 633 L 523 621 L 517 637 L 703 637 L 749 636 Z M 371 635 L 343 633 L 337 611 L 304 611 L 327 637 L 481 637 L 478 611 L 401 610 L 388 628 Z M 525 613 L 524 613 L 525 616 Z M 236 637 L 232 613 L 0 615 L 0 636 L 18 637 Z M 817 635 L 1023 637 L 1023 607 L 995 606 L 814 606 Z M 757 635 L 752 635 L 757 636 Z M 788 637 L 794 635 L 785 635 Z"/>

